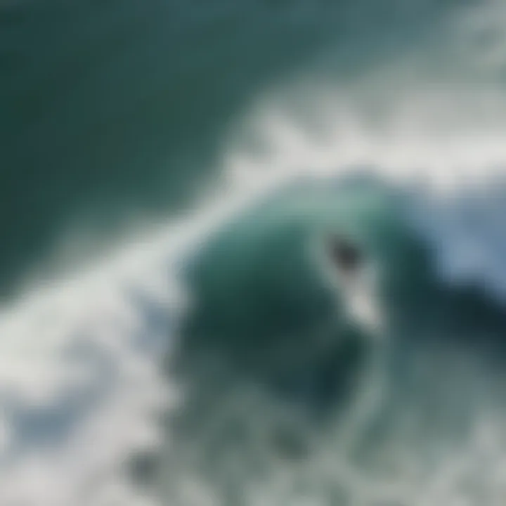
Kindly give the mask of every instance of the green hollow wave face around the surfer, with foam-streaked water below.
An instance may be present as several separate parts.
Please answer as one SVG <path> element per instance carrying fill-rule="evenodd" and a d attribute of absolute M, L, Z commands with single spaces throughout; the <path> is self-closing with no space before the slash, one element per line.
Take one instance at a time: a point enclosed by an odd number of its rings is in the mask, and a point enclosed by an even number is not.
<path fill-rule="evenodd" d="M 185 391 L 162 460 L 167 504 L 501 497 L 504 306 L 441 277 L 408 195 L 367 177 L 301 181 L 198 249 L 167 364 Z M 381 327 L 328 283 L 311 246 L 332 233 L 375 264 Z"/>

